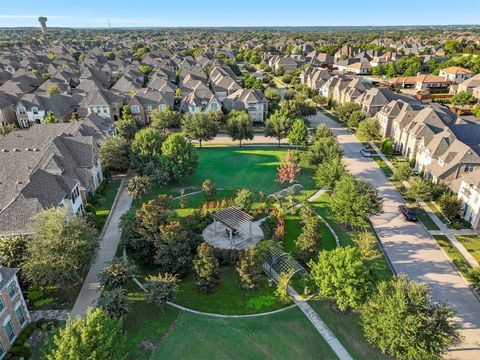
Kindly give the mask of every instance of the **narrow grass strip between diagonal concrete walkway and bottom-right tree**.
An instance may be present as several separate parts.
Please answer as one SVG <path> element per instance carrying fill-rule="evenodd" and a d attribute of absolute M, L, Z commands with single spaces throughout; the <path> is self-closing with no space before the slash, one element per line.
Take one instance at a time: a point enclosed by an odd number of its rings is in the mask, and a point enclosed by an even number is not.
<path fill-rule="evenodd" d="M 358 313 L 336 314 L 331 309 L 332 302 L 330 300 L 311 300 L 308 303 L 330 330 L 333 331 L 354 359 L 389 359 L 387 355 L 382 354 L 380 350 L 377 350 L 367 342 Z"/>

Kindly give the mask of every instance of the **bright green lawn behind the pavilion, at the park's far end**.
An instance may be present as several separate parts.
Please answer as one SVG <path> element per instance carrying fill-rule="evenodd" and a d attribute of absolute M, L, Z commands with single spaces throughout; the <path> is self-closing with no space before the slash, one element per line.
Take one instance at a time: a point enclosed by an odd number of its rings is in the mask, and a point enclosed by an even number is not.
<path fill-rule="evenodd" d="M 200 190 L 205 179 L 210 179 L 217 189 L 250 189 L 271 194 L 288 187 L 275 182 L 277 168 L 287 149 L 274 147 L 205 147 L 197 148 L 198 167 L 194 174 L 174 186 L 154 186 L 143 198 L 135 199 L 133 207 L 159 194 L 178 196 L 181 189 L 186 193 Z M 313 169 L 302 166 L 298 177 L 306 190 L 315 188 Z"/>

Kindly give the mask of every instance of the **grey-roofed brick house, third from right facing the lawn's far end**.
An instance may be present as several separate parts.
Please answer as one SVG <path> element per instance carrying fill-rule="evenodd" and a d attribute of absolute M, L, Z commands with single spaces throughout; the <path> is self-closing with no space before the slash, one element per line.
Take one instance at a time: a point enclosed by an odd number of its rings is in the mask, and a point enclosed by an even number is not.
<path fill-rule="evenodd" d="M 175 96 L 171 92 L 161 93 L 158 91 L 142 89 L 135 93 L 128 102 L 132 115 L 143 124 L 150 123 L 150 113 L 157 109 L 173 109 Z"/>

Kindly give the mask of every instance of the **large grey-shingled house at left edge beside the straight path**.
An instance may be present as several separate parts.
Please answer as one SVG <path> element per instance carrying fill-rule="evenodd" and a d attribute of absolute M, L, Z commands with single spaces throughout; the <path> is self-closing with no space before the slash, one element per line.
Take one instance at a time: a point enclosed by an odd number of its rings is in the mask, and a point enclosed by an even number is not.
<path fill-rule="evenodd" d="M 107 126 L 104 126 L 107 128 Z M 28 233 L 43 209 L 84 209 L 86 196 L 103 180 L 95 120 L 39 124 L 0 139 L 0 235 Z"/>

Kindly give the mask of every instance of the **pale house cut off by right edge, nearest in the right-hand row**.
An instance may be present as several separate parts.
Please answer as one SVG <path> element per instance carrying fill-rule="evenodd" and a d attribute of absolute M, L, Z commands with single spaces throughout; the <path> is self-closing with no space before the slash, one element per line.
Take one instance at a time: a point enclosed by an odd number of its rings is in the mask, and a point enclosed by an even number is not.
<path fill-rule="evenodd" d="M 454 181 L 450 188 L 462 201 L 462 217 L 480 229 L 480 168 Z"/>

